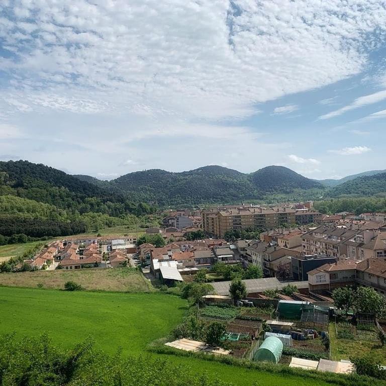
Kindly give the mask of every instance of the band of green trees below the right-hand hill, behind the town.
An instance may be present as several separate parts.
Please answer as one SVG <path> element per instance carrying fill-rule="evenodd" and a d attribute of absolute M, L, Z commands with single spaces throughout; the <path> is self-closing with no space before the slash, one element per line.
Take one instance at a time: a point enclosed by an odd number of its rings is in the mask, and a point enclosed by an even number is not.
<path fill-rule="evenodd" d="M 361 213 L 386 212 L 386 199 L 376 197 L 330 199 L 315 202 L 314 208 L 324 214 L 351 212 L 360 215 Z"/>

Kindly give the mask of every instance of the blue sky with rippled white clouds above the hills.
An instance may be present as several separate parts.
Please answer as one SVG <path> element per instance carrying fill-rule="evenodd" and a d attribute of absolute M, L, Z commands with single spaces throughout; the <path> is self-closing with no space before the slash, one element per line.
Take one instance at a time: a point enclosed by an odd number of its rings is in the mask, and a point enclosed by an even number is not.
<path fill-rule="evenodd" d="M 0 160 L 323 179 L 385 141 L 384 0 L 0 2 Z"/>

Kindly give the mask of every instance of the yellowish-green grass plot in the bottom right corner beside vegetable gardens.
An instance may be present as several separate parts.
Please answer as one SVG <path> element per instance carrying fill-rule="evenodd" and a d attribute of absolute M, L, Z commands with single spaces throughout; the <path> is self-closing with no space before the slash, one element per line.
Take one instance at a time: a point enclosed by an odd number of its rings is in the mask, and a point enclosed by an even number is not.
<path fill-rule="evenodd" d="M 381 347 L 375 332 L 359 331 L 354 339 L 338 339 L 334 322 L 329 325 L 331 355 L 334 360 L 349 359 L 351 356 L 371 356 L 386 365 L 386 347 Z M 370 339 L 371 338 L 371 339 Z"/>

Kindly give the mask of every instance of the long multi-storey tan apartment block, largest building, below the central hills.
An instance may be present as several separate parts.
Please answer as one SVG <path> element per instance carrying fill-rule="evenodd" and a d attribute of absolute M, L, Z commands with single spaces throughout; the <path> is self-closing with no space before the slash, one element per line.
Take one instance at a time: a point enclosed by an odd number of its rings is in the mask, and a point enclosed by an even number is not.
<path fill-rule="evenodd" d="M 314 211 L 301 211 L 288 208 L 232 208 L 227 210 L 204 210 L 202 212 L 205 232 L 224 237 L 229 230 L 273 229 L 286 224 L 309 224 L 321 214 Z"/>

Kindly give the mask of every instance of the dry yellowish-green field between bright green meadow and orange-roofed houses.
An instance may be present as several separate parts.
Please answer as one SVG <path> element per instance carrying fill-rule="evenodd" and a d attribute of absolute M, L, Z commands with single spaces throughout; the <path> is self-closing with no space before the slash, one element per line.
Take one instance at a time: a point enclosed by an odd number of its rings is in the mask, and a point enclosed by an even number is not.
<path fill-rule="evenodd" d="M 153 288 L 135 268 L 88 268 L 36 272 L 0 273 L 0 285 L 63 289 L 66 281 L 75 281 L 87 290 L 151 292 Z M 3 291 L 3 288 L 0 289 Z"/>

